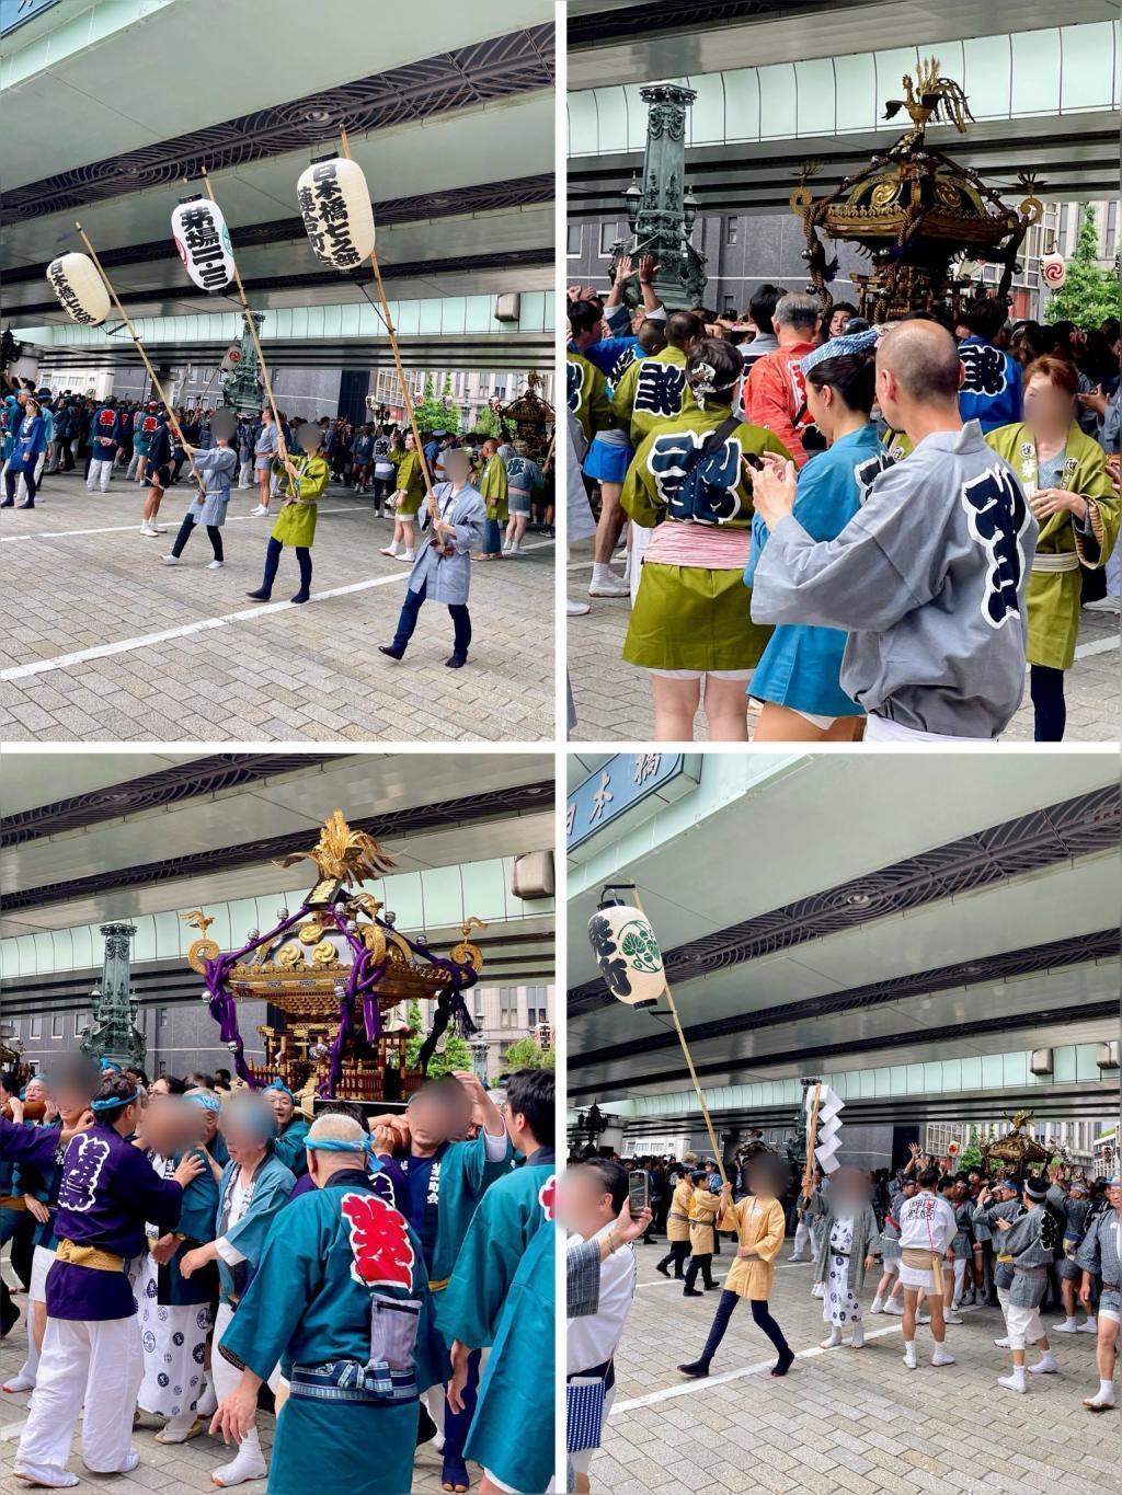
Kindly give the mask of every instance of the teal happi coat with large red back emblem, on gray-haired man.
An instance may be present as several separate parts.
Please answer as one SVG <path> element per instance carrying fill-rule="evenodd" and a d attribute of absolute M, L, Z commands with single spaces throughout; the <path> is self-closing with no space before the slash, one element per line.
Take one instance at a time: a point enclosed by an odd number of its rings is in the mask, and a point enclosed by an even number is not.
<path fill-rule="evenodd" d="M 269 1495 L 411 1489 L 417 1351 L 399 1331 L 408 1322 L 425 1337 L 429 1314 L 420 1241 L 362 1171 L 335 1174 L 277 1215 L 217 1350 L 262 1380 L 280 1360 L 292 1383 Z M 389 1325 L 384 1341 L 375 1325 Z M 395 1375 L 380 1390 L 373 1363 L 386 1353 Z"/>

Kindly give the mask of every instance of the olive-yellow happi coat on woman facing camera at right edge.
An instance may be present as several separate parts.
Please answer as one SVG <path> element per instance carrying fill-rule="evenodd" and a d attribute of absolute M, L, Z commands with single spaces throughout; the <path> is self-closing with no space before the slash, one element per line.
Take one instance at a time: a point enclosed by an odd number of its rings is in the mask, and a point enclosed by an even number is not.
<path fill-rule="evenodd" d="M 998 426 L 986 435 L 1026 489 L 1037 484 L 1037 447 L 1025 425 Z M 1091 528 L 1098 540 L 1098 558 L 1089 561 L 1068 510 L 1052 514 L 1040 526 L 1032 574 L 1028 583 L 1028 662 L 1070 670 L 1076 658 L 1080 608 L 1080 565 L 1094 571 L 1106 565 L 1115 549 L 1119 525 L 1119 498 L 1107 472 L 1103 447 L 1071 422 L 1058 487 L 1080 493 L 1091 502 Z M 1053 558 L 1070 558 L 1071 570 L 1047 570 Z M 1062 562 L 1061 562 L 1062 564 Z"/>

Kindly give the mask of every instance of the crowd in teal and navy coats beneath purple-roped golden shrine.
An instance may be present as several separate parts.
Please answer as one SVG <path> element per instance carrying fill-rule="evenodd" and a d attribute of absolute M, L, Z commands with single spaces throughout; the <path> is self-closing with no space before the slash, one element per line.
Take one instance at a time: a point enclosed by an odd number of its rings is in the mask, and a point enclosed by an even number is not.
<path fill-rule="evenodd" d="M 473 1075 L 404 1111 L 229 1073 L 148 1082 L 87 1055 L 0 1076 L 0 1329 L 25 1326 L 13 1473 L 69 1488 L 157 1441 L 233 1446 L 211 1479 L 402 1495 L 434 1441 L 444 1491 L 554 1471 L 554 1076 Z M 34 1120 L 30 1117 L 34 1115 Z M 25 1296 L 24 1296 L 25 1295 Z M 19 1307 L 19 1299 L 24 1307 Z M 275 1413 L 266 1461 L 260 1408 Z"/>

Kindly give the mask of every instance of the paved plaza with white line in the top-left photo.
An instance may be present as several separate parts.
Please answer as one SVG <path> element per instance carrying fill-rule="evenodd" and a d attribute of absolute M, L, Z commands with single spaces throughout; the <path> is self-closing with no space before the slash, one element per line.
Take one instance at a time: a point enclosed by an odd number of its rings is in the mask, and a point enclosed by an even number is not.
<path fill-rule="evenodd" d="M 33 511 L 4 510 L 0 556 L 0 734 L 7 742 L 543 742 L 554 736 L 554 541 L 527 537 L 518 561 L 473 565 L 473 646 L 446 670 L 447 610 L 428 604 L 410 652 L 393 635 L 408 567 L 378 555 L 392 525 L 370 498 L 329 487 L 320 502 L 311 601 L 281 558 L 274 601 L 260 586 L 272 519 L 233 492 L 226 565 L 205 534 L 177 567 L 184 478 L 163 499 L 166 534 L 139 534 L 142 489 L 117 474 L 87 493 L 48 477 Z M 277 499 L 274 499 L 274 507 Z"/>

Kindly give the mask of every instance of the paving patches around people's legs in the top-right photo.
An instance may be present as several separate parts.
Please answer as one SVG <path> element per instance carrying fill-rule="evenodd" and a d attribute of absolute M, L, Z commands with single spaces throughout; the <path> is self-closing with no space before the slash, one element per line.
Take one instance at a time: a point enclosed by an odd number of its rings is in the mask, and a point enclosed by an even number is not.
<path fill-rule="evenodd" d="M 621 567 L 616 567 L 621 570 Z M 651 682 L 621 658 L 631 604 L 627 598 L 588 597 L 591 541 L 573 547 L 568 595 L 592 604 L 583 617 L 568 619 L 568 677 L 576 701 L 573 742 L 646 742 L 654 727 Z M 1119 619 L 1116 613 L 1083 611 L 1076 662 L 1067 674 L 1068 728 L 1065 742 L 1118 742 L 1122 730 L 1119 679 Z M 749 730 L 758 707 L 748 715 Z M 705 718 L 697 713 L 697 736 Z M 1001 742 L 1032 742 L 1028 698 L 1002 733 Z"/>

